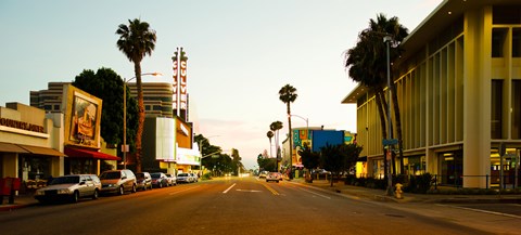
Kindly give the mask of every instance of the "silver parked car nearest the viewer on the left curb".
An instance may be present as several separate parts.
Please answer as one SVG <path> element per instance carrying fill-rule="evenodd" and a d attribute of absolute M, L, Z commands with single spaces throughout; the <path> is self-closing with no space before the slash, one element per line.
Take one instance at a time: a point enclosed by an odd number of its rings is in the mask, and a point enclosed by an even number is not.
<path fill-rule="evenodd" d="M 100 191 L 101 182 L 96 174 L 71 174 L 54 178 L 48 186 L 38 188 L 35 198 L 40 203 L 64 199 L 77 203 L 82 197 L 98 199 Z"/>

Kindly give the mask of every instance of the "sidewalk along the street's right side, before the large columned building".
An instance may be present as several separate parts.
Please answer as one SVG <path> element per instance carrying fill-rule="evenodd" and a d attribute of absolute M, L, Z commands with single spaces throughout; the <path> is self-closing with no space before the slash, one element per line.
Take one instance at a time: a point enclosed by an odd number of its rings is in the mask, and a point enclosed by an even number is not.
<path fill-rule="evenodd" d="M 439 194 L 410 194 L 404 193 L 402 199 L 394 196 L 386 196 L 383 190 L 373 190 L 353 185 L 345 185 L 344 182 L 336 182 L 331 187 L 331 183 L 326 180 L 314 180 L 313 183 L 306 183 L 304 179 L 293 179 L 290 181 L 305 186 L 330 191 L 345 196 L 368 198 L 380 201 L 392 203 L 423 203 L 423 204 L 506 204 L 521 203 L 521 195 L 439 195 Z"/>

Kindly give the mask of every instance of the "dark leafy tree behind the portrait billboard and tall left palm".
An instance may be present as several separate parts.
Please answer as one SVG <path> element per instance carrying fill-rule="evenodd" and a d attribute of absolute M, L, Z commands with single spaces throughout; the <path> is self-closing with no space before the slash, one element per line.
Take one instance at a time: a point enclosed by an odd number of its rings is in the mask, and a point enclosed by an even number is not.
<path fill-rule="evenodd" d="M 101 136 L 109 144 L 123 143 L 123 79 L 110 68 L 99 68 L 97 73 L 85 69 L 72 82 L 77 87 L 101 100 Z M 127 92 L 128 89 L 127 89 Z M 136 99 L 127 95 L 127 119 L 130 130 L 127 135 L 132 140 L 138 127 L 138 105 Z M 134 141 L 129 142 L 134 146 Z"/>

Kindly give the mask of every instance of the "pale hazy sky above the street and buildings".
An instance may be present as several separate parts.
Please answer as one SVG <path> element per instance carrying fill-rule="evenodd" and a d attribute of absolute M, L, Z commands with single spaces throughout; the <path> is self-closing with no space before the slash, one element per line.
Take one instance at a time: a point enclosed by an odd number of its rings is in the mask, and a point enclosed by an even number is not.
<path fill-rule="evenodd" d="M 398 3 L 399 2 L 399 3 Z M 188 56 L 190 120 L 213 145 L 236 148 L 243 165 L 269 152 L 266 133 L 282 121 L 278 92 L 296 88 L 292 127 L 356 132 L 356 105 L 341 104 L 357 86 L 343 66 L 370 18 L 397 16 L 412 31 L 442 0 L 91 0 L 0 1 L 0 106 L 29 104 L 48 82 L 73 81 L 106 67 L 125 78 L 134 65 L 117 49 L 118 25 L 140 18 L 156 31 L 143 73 L 171 82 L 171 56 Z M 272 143 L 274 144 L 274 143 Z"/>

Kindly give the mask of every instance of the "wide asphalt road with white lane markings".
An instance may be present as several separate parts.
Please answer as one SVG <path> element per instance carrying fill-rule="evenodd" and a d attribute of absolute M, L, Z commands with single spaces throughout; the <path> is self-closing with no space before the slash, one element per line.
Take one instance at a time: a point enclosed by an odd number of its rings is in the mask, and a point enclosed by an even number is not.
<path fill-rule="evenodd" d="M 0 212 L 0 234 L 439 235 L 495 231 L 473 226 L 475 221 L 455 221 L 454 211 L 460 211 L 457 208 L 429 209 L 433 212 L 425 213 L 425 208 L 412 205 L 350 198 L 285 181 L 230 178 Z M 461 213 L 498 223 L 497 218 L 491 218 L 496 216 Z M 508 220 L 520 222 L 508 218 L 501 223 L 511 223 Z"/>

